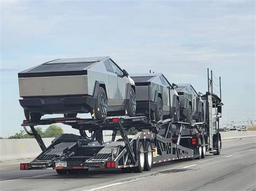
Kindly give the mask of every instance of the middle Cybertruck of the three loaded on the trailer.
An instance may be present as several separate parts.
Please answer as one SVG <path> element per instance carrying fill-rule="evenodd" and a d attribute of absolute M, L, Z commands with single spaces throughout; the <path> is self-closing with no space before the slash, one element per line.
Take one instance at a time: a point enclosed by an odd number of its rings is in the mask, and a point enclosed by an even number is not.
<path fill-rule="evenodd" d="M 177 87 L 176 84 L 171 85 L 161 73 L 131 74 L 130 76 L 136 84 L 137 115 L 149 116 L 150 113 L 152 119 L 160 121 L 170 118 L 171 109 L 174 121 L 179 121 L 179 96 L 174 89 Z"/>

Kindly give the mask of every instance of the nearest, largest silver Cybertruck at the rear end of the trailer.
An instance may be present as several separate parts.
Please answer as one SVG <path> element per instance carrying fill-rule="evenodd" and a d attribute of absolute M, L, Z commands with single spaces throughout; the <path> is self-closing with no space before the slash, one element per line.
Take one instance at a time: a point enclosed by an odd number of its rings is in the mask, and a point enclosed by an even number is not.
<path fill-rule="evenodd" d="M 44 114 L 136 115 L 134 82 L 109 56 L 45 62 L 18 73 L 18 81 L 19 103 L 31 121 Z"/>

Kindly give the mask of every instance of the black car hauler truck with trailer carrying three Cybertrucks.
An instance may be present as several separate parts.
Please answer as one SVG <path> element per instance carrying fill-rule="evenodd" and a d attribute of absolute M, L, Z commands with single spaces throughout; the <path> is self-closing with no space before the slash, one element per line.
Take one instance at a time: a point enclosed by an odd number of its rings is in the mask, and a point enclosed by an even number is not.
<path fill-rule="evenodd" d="M 150 84 L 148 88 L 150 92 Z M 202 96 L 205 122 L 192 125 L 176 122 L 173 118 L 156 122 L 146 116 L 115 116 L 103 120 L 77 117 L 41 119 L 37 122 L 24 120 L 22 126 L 25 130 L 26 126 L 30 126 L 32 133 L 26 132 L 35 136 L 42 153 L 30 163 L 21 164 L 20 168 L 53 168 L 58 174 L 87 172 L 91 168 L 120 168 L 124 173 L 143 172 L 150 171 L 153 164 L 160 162 L 205 158 L 207 151 L 220 154 L 219 118 L 223 105 L 220 97 L 212 93 L 212 77 L 208 77 L 208 91 Z M 59 135 L 46 147 L 34 127 L 54 123 L 70 125 L 80 135 Z M 132 138 L 126 134 L 130 128 L 138 130 Z M 105 130 L 112 131 L 112 139 L 104 143 Z M 118 131 L 121 139 L 116 139 Z"/>

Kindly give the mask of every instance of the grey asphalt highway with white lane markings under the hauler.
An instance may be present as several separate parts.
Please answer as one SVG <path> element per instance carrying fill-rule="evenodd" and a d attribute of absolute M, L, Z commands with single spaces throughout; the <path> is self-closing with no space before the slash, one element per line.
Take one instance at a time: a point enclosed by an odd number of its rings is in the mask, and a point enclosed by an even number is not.
<path fill-rule="evenodd" d="M 26 162 L 26 161 L 25 161 Z M 220 155 L 154 165 L 150 172 L 89 171 L 58 175 L 54 170 L 19 171 L 1 165 L 1 190 L 256 190 L 256 138 L 223 140 Z"/>

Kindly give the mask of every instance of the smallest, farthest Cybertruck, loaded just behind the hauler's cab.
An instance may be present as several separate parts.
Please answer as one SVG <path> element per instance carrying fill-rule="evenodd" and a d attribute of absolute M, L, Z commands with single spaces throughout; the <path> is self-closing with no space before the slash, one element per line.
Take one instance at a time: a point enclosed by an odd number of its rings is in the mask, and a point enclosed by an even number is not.
<path fill-rule="evenodd" d="M 204 122 L 204 102 L 190 83 L 177 84 L 180 102 L 180 120 L 192 124 Z"/>

